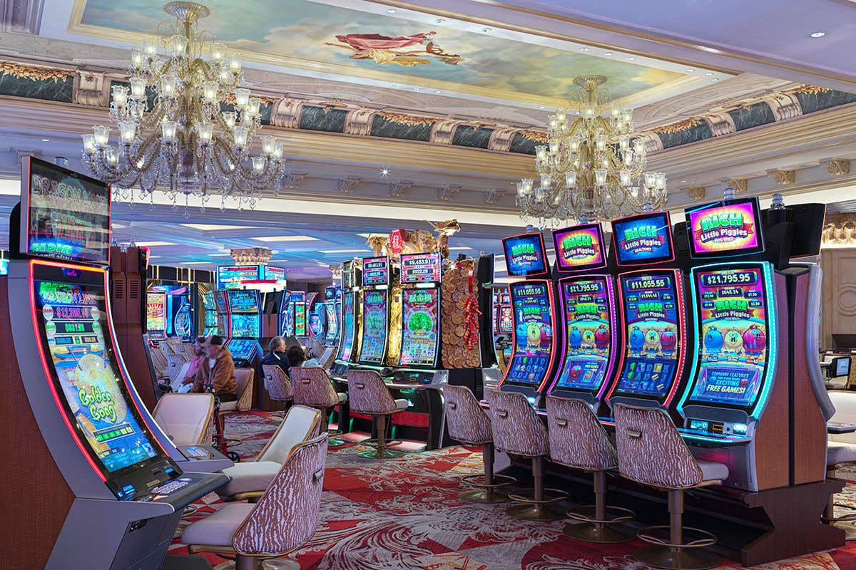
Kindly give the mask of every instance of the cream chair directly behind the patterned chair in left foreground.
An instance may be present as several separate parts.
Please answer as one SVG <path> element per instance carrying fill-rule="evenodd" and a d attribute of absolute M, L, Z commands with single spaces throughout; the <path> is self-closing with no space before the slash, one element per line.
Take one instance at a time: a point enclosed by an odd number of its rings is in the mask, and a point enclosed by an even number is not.
<path fill-rule="evenodd" d="M 285 419 L 276 428 L 259 456 L 254 461 L 241 461 L 223 469 L 229 483 L 217 489 L 223 501 L 255 501 L 265 494 L 270 481 L 276 476 L 288 455 L 296 446 L 318 437 L 321 412 L 306 406 L 288 408 Z"/>

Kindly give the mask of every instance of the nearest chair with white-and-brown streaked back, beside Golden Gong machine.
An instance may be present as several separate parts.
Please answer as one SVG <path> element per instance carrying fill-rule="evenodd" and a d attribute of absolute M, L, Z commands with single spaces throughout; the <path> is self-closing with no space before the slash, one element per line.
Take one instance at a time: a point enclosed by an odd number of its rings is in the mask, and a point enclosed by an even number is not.
<path fill-rule="evenodd" d="M 299 444 L 259 502 L 224 505 L 188 525 L 181 542 L 191 554 L 234 555 L 238 570 L 268 567 L 268 559 L 276 559 L 270 567 L 300 568 L 280 557 L 306 544 L 318 527 L 326 459 L 326 433 Z"/>

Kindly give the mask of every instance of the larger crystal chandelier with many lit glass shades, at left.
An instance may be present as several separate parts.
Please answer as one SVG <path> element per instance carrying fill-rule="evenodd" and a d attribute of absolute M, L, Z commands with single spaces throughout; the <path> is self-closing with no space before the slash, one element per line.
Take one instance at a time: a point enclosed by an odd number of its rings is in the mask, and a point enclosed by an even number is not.
<path fill-rule="evenodd" d="M 117 199 L 134 203 L 155 189 L 176 197 L 235 199 L 239 209 L 253 208 L 265 191 L 278 191 L 285 174 L 282 143 L 253 135 L 261 126 L 258 98 L 241 85 L 241 62 L 199 32 L 197 21 L 210 15 L 197 3 L 170 2 L 163 10 L 175 23 L 163 22 L 159 38 L 131 52 L 130 86 L 113 85 L 110 116 L 119 138 L 110 143 L 110 126 L 93 126 L 83 137 L 83 163 L 94 176 L 114 185 Z M 164 37 L 165 36 L 165 37 Z M 160 56 L 164 48 L 165 56 Z M 233 102 L 234 99 L 234 102 Z"/>

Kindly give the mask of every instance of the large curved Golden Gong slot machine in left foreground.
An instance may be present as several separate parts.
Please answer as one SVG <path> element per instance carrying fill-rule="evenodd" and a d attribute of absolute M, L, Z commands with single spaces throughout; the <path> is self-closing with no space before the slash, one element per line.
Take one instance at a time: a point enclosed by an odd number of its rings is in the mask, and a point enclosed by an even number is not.
<path fill-rule="evenodd" d="M 117 349 L 105 266 L 110 189 L 27 156 L 0 282 L 7 401 L 18 444 L 3 508 L 15 568 L 184 567 L 167 554 L 184 508 L 226 483 L 191 473 L 143 406 Z M 68 196 L 77 197 L 69 201 Z M 60 209 L 68 207 L 69 209 Z M 48 500 L 45 500 L 45 497 Z"/>

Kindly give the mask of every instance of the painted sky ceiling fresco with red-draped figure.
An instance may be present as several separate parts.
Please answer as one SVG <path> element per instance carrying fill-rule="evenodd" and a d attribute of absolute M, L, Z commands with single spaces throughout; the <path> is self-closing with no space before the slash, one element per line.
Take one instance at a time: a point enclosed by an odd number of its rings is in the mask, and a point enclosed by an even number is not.
<path fill-rule="evenodd" d="M 158 23 L 169 19 L 158 0 L 81 1 L 86 4 L 80 23 L 91 33 L 91 26 L 154 33 Z M 211 16 L 199 28 L 210 30 L 217 39 L 242 50 L 281 57 L 285 65 L 301 67 L 303 62 L 304 68 L 319 71 L 330 66 L 331 73 L 386 72 L 392 80 L 406 81 L 401 78 L 404 75 L 554 98 L 567 97 L 574 76 L 581 74 L 607 76 L 615 98 L 683 77 L 576 51 L 308 0 L 254 0 L 251 9 L 247 3 L 231 0 L 205 0 L 205 5 Z"/>

